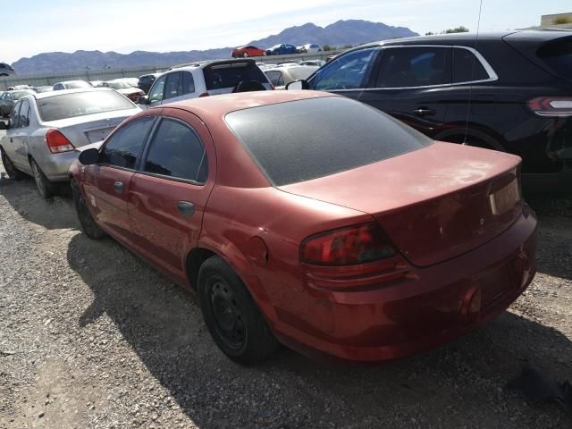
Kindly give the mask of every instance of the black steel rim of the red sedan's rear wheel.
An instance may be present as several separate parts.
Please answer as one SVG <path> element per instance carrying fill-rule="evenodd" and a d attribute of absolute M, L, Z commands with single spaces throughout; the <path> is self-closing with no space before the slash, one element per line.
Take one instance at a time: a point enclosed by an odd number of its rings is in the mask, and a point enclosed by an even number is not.
<path fill-rule="evenodd" d="M 213 277 L 207 290 L 216 333 L 229 348 L 241 349 L 246 341 L 246 324 L 231 288 L 223 279 Z"/>

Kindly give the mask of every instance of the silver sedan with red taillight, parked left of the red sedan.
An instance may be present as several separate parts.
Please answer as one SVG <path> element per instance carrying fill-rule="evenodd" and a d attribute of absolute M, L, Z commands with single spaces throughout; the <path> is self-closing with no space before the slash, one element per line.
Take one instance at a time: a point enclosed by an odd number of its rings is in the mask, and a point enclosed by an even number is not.
<path fill-rule="evenodd" d="M 64 89 L 21 97 L 0 140 L 4 170 L 14 180 L 34 177 L 43 198 L 69 181 L 76 147 L 105 139 L 124 119 L 141 111 L 110 88 Z"/>

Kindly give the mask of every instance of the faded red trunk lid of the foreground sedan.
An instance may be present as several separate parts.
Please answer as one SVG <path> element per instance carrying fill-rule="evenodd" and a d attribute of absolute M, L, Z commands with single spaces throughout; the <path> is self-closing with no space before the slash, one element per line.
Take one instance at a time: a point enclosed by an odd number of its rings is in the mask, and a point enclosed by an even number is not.
<path fill-rule="evenodd" d="M 429 147 L 280 189 L 372 214 L 409 262 L 440 263 L 517 220 L 519 158 L 477 147 Z"/>

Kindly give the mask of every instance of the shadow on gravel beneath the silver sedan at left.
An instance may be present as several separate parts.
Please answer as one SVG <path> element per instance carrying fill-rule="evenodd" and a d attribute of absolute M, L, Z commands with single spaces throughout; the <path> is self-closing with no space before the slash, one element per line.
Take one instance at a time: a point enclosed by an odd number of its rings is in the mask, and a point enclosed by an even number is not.
<path fill-rule="evenodd" d="M 31 178 L 13 181 L 4 172 L 0 174 L 0 197 L 4 197 L 27 221 L 47 230 L 80 228 L 71 200 L 71 188 L 67 184 L 59 187 L 57 196 L 46 200 L 38 195 Z"/>

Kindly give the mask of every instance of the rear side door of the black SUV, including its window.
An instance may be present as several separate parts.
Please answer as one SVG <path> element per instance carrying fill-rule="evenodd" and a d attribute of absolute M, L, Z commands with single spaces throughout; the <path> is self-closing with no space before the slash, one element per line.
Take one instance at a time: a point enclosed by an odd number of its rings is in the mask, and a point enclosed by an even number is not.
<path fill-rule="evenodd" d="M 433 137 L 443 129 L 451 46 L 386 46 L 360 101 Z"/>

